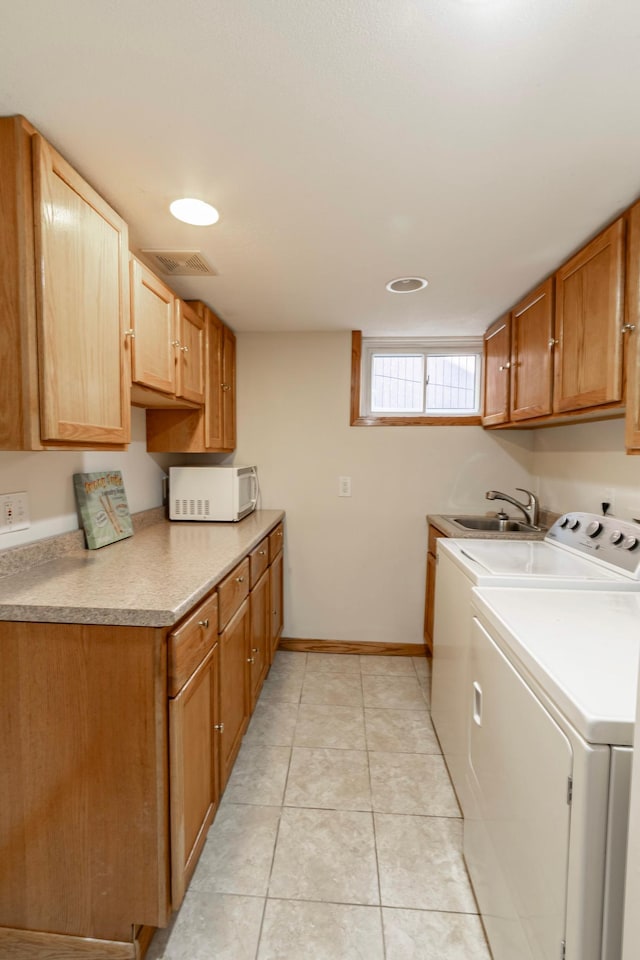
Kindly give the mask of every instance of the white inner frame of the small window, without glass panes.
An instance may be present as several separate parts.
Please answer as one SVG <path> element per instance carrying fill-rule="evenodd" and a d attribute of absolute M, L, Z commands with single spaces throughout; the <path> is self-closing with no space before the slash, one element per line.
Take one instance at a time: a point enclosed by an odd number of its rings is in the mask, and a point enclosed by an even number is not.
<path fill-rule="evenodd" d="M 371 369 L 374 356 L 405 356 L 422 354 L 425 358 L 424 369 L 426 378 L 427 357 L 454 357 L 454 356 L 475 356 L 476 382 L 474 407 L 472 410 L 428 410 L 421 412 L 409 411 L 379 411 L 371 409 Z M 438 419 L 446 417 L 464 418 L 479 417 L 481 402 L 481 384 L 482 384 L 482 338 L 477 337 L 424 337 L 424 338 L 402 338 L 402 337 L 363 337 L 362 338 L 362 360 L 360 367 L 360 416 L 364 418 L 384 418 L 400 417 L 411 419 Z M 426 382 L 424 384 L 424 395 L 426 405 Z"/>

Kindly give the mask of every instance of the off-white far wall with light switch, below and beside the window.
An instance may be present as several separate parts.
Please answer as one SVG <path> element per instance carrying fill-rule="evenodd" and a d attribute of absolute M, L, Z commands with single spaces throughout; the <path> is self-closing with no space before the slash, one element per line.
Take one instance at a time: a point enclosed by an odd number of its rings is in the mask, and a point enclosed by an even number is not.
<path fill-rule="evenodd" d="M 235 461 L 287 512 L 285 636 L 422 643 L 426 514 L 533 489 L 533 437 L 350 427 L 350 365 L 349 333 L 239 334 Z"/>

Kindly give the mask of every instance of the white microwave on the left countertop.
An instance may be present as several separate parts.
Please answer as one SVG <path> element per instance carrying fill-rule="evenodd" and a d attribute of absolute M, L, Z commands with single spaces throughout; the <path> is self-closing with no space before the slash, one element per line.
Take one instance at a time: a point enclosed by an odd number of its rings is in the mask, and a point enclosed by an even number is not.
<path fill-rule="evenodd" d="M 170 520 L 242 520 L 257 502 L 257 467 L 169 467 Z"/>

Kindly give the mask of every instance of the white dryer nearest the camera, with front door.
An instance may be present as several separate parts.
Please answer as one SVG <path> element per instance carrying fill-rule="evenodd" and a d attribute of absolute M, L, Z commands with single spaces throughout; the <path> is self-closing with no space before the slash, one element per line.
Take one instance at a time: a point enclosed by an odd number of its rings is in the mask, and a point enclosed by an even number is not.
<path fill-rule="evenodd" d="M 494 960 L 620 960 L 640 594 L 473 594 L 464 852 Z"/>

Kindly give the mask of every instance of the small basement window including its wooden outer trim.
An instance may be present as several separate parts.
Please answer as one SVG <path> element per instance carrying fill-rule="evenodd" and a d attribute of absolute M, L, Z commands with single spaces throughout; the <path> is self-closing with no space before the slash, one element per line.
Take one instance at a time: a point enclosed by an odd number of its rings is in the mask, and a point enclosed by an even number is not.
<path fill-rule="evenodd" d="M 480 423 L 482 341 L 352 337 L 353 426 Z"/>

